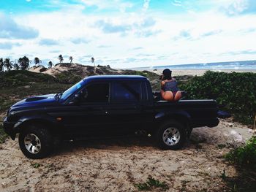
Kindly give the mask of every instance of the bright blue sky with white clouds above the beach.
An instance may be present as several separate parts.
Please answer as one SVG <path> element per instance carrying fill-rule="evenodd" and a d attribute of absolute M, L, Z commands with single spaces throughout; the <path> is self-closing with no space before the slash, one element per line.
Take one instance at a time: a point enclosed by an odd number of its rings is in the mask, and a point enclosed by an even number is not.
<path fill-rule="evenodd" d="M 256 59 L 255 0 L 0 0 L 0 58 L 115 68 Z"/>

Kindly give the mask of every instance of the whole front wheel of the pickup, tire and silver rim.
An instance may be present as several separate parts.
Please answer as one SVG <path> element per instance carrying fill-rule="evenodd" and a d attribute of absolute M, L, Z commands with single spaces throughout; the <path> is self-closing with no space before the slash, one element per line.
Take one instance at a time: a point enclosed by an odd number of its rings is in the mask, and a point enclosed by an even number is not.
<path fill-rule="evenodd" d="M 20 150 L 27 158 L 45 158 L 53 149 L 53 137 L 42 126 L 22 128 L 18 140 Z"/>

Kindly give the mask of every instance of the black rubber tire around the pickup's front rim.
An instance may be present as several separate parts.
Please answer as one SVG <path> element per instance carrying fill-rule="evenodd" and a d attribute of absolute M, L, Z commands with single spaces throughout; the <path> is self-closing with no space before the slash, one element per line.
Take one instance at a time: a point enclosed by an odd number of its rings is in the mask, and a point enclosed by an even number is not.
<path fill-rule="evenodd" d="M 39 147 L 39 150 L 36 150 L 35 153 L 30 152 L 26 148 L 26 146 L 28 147 L 29 145 L 25 145 L 24 139 L 25 137 L 28 138 L 28 136 L 36 136 L 37 141 L 39 140 L 40 147 Z M 46 128 L 40 125 L 29 125 L 26 128 L 21 128 L 18 140 L 19 140 L 20 150 L 23 152 L 23 154 L 27 158 L 32 158 L 32 159 L 45 158 L 53 149 L 52 134 L 50 134 L 50 132 Z M 31 147 L 29 147 L 29 149 L 31 149 Z"/>

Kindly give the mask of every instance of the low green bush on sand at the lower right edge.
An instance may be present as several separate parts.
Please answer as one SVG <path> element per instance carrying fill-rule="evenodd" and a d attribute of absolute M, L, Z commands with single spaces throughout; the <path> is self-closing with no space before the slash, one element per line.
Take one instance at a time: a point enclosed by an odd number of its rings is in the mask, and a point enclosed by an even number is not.
<path fill-rule="evenodd" d="M 225 158 L 233 164 L 249 166 L 256 171 L 256 136 L 249 139 L 244 146 L 231 150 Z"/>

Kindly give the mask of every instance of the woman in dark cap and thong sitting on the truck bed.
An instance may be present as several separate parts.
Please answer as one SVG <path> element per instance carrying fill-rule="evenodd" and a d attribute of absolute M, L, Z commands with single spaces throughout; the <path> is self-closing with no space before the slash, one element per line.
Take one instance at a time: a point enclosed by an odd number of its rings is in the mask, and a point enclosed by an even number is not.
<path fill-rule="evenodd" d="M 181 99 L 181 91 L 178 89 L 178 82 L 172 77 L 172 71 L 165 69 L 161 78 L 161 96 L 166 101 L 178 101 Z"/>

